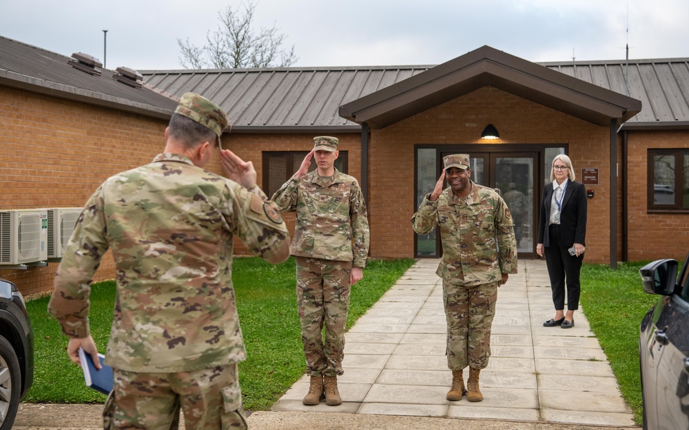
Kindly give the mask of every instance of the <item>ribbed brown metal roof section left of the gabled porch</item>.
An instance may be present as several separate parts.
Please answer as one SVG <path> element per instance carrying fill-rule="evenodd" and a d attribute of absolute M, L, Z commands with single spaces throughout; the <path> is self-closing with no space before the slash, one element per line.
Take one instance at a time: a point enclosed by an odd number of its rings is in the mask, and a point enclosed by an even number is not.
<path fill-rule="evenodd" d="M 232 131 L 323 129 L 358 132 L 338 115 L 351 100 L 389 87 L 431 66 L 282 67 L 140 71 L 146 83 L 174 96 L 196 92 L 218 103 Z"/>

